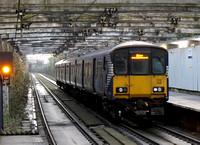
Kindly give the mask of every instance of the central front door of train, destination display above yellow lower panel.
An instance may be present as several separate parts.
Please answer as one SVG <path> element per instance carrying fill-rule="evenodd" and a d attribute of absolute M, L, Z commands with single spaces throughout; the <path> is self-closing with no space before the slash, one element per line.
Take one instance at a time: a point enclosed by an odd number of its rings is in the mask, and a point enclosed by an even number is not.
<path fill-rule="evenodd" d="M 150 51 L 130 51 L 130 98 L 151 94 Z"/>

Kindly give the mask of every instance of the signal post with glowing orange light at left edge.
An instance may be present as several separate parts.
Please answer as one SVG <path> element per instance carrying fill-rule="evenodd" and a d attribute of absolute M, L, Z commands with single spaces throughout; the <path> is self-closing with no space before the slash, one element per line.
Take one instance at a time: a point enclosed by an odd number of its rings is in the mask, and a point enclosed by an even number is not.
<path fill-rule="evenodd" d="M 10 75 L 13 70 L 12 52 L 0 52 L 0 134 L 3 130 L 3 84 L 10 84 Z"/>

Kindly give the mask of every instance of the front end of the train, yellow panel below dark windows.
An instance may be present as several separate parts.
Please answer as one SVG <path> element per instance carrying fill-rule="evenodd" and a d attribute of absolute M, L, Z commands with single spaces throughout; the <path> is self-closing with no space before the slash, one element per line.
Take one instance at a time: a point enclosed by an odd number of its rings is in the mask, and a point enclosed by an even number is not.
<path fill-rule="evenodd" d="M 168 53 L 148 43 L 120 45 L 110 53 L 113 114 L 164 115 L 168 100 Z M 111 91 L 111 90 L 110 90 Z"/>

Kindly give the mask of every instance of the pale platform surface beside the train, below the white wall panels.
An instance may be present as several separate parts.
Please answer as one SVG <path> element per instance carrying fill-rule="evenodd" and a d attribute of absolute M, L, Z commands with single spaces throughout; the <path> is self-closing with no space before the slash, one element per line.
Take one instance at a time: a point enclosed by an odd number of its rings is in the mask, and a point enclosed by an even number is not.
<path fill-rule="evenodd" d="M 175 106 L 200 112 L 200 96 L 169 91 L 167 103 Z"/>

